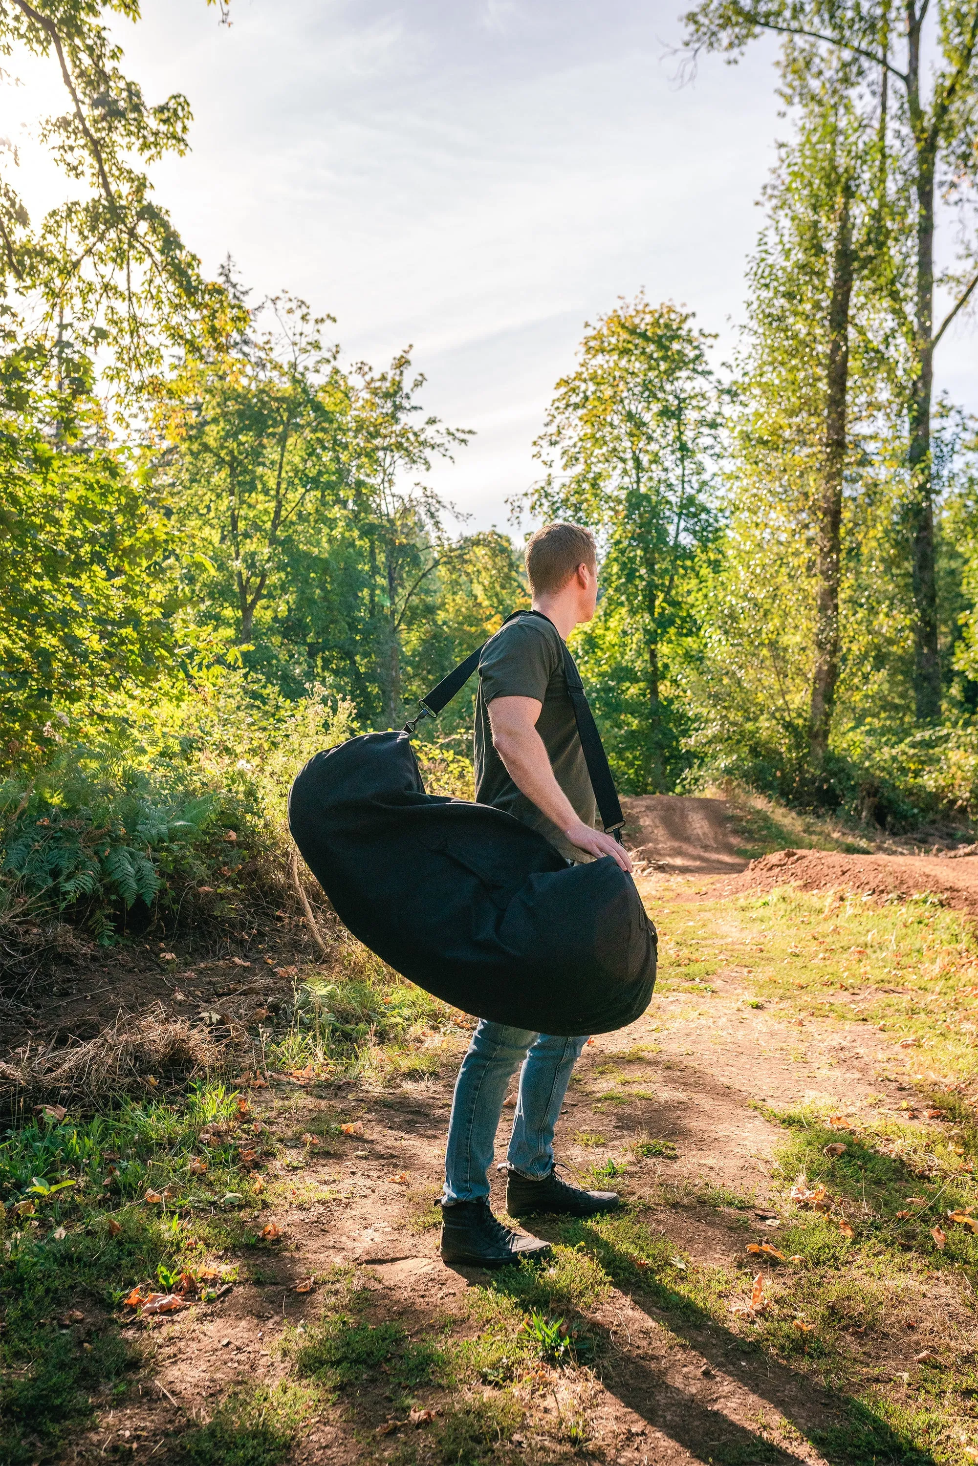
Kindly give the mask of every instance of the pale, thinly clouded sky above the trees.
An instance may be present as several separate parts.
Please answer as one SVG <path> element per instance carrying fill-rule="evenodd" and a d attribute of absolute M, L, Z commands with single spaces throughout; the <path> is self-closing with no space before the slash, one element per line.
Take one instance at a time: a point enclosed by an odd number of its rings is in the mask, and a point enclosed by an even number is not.
<path fill-rule="evenodd" d="M 223 26 L 204 0 L 144 0 L 116 32 L 147 100 L 191 101 L 192 151 L 152 177 L 208 273 L 230 254 L 252 302 L 289 290 L 334 315 L 346 361 L 411 346 L 425 409 L 475 430 L 431 482 L 469 528 L 504 529 L 587 321 L 644 289 L 695 311 L 717 362 L 733 349 L 789 125 L 773 41 L 683 79 L 682 9 L 232 0 Z M 0 128 L 51 85 L 7 88 Z M 978 409 L 974 362 L 962 323 L 938 384 Z"/>

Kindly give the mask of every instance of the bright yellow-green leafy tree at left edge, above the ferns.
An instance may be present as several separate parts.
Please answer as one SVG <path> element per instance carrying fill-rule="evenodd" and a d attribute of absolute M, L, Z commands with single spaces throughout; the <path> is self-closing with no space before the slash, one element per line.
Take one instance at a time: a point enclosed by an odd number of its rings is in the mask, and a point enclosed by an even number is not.
<path fill-rule="evenodd" d="M 0 762 L 29 764 L 72 704 L 152 679 L 170 655 L 170 528 L 106 444 L 91 366 L 0 358 Z"/>

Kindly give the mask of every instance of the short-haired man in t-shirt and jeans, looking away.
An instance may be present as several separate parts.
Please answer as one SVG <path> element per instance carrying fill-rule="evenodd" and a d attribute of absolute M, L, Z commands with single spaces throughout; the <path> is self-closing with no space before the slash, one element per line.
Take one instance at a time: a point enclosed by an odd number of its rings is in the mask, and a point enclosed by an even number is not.
<path fill-rule="evenodd" d="M 597 806 L 563 670 L 563 641 L 589 622 L 597 603 L 597 556 L 589 529 L 554 523 L 526 547 L 532 608 L 507 622 L 479 661 L 475 704 L 475 798 L 540 830 L 569 861 L 630 861 L 595 830 Z M 554 1173 L 553 1136 L 570 1070 L 587 1042 L 481 1019 L 455 1085 L 441 1256 L 500 1267 L 540 1256 L 550 1243 L 512 1231 L 488 1205 L 488 1167 L 512 1075 L 522 1064 L 509 1142 L 510 1217 L 559 1212 L 592 1217 L 619 1205 L 614 1192 L 570 1186 Z"/>

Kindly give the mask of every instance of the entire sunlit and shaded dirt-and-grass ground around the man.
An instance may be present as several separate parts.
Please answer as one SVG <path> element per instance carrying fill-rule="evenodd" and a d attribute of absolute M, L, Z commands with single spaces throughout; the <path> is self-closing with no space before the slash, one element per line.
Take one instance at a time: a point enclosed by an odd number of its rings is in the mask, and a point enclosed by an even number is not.
<path fill-rule="evenodd" d="M 896 899 L 824 863 L 738 874 L 757 841 L 702 815 L 705 869 L 642 852 L 655 994 L 588 1044 L 557 1132 L 626 1205 L 534 1221 L 543 1268 L 438 1258 L 469 1028 L 443 1004 L 394 1036 L 378 1017 L 345 1060 L 301 1004 L 265 1041 L 293 987 L 342 997 L 284 927 L 192 965 L 157 941 L 79 957 L 22 994 L 12 1050 L 141 992 L 160 1023 L 257 1023 L 267 1053 L 182 1100 L 148 1076 L 9 1132 L 3 1460 L 978 1460 L 971 907 L 916 877 Z M 378 1013 L 408 1003 L 369 982 Z"/>

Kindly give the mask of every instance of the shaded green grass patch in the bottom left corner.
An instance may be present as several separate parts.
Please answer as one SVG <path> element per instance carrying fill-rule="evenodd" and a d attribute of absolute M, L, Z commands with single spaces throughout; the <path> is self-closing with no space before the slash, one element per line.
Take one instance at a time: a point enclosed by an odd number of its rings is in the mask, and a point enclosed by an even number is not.
<path fill-rule="evenodd" d="M 252 1121 L 240 1102 L 224 1085 L 198 1085 L 179 1107 L 126 1104 L 79 1121 L 40 1116 L 7 1132 L 0 1459 L 9 1466 L 57 1450 L 95 1406 L 126 1393 L 141 1359 L 119 1319 L 135 1286 L 166 1292 L 240 1236 L 236 1211 L 218 1205 L 232 1190 L 243 1205 L 257 1201 L 254 1171 L 242 1167 Z M 191 1161 L 202 1151 L 207 1170 L 196 1174 Z"/>

